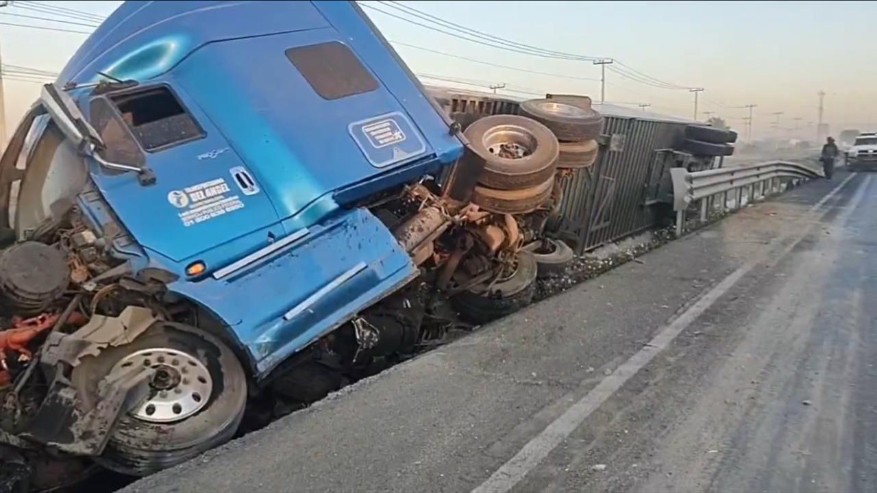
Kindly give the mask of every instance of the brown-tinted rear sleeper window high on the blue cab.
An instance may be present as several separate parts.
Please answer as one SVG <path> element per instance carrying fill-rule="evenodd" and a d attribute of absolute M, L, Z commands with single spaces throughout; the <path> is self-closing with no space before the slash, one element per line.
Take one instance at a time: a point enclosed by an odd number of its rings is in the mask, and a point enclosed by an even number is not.
<path fill-rule="evenodd" d="M 378 89 L 378 82 L 356 55 L 337 41 L 289 48 L 286 57 L 324 99 L 339 99 Z"/>

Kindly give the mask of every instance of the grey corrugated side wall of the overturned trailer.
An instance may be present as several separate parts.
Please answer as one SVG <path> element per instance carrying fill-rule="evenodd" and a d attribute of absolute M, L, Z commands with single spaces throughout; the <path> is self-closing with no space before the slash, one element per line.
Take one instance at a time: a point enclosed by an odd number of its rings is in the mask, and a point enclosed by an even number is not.
<path fill-rule="evenodd" d="M 446 91 L 439 104 L 454 117 L 517 113 L 517 102 Z M 663 175 L 658 149 L 676 146 L 685 123 L 603 115 L 599 158 L 563 184 L 559 217 L 548 223 L 550 232 L 566 240 L 579 253 L 622 239 L 656 225 L 659 217 L 647 205 L 648 190 Z M 465 119 L 465 118 L 462 118 Z"/>

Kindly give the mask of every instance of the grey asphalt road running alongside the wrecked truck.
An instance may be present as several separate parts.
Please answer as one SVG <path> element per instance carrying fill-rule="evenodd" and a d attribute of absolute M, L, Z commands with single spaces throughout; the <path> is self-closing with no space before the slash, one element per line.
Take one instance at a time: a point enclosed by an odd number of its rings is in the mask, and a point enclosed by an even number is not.
<path fill-rule="evenodd" d="M 877 176 L 838 173 L 130 491 L 875 491 Z"/>

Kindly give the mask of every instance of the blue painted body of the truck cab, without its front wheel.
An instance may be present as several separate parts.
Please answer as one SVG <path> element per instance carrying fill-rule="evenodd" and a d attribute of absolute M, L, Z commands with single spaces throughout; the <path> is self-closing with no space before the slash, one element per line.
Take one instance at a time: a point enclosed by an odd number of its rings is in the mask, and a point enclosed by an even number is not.
<path fill-rule="evenodd" d="M 462 144 L 355 4 L 127 2 L 59 82 L 108 77 L 137 83 L 70 94 L 154 183 L 92 164 L 96 195 L 257 376 L 417 275 L 356 204 Z"/>

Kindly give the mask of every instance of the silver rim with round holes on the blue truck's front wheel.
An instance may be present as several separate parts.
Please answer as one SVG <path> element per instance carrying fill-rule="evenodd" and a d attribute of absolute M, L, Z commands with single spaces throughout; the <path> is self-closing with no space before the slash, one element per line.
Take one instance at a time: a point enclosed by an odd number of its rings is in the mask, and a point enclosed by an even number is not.
<path fill-rule="evenodd" d="M 207 367 L 191 354 L 164 347 L 128 354 L 111 373 L 132 366 L 153 368 L 151 397 L 131 411 L 151 423 L 173 423 L 189 418 L 207 405 L 213 380 Z"/>

